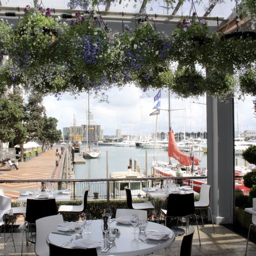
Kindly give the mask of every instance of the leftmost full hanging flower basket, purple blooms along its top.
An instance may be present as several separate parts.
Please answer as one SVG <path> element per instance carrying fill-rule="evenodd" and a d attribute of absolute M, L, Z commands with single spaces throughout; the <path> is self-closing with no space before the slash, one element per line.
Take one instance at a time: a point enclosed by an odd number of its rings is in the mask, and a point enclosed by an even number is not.
<path fill-rule="evenodd" d="M 42 8 L 31 11 L 29 6 L 25 13 L 10 35 L 9 58 L 24 71 L 28 68 L 37 70 L 38 63 L 56 61 L 56 42 L 64 27 L 51 19 L 49 9 L 46 16 Z"/>

